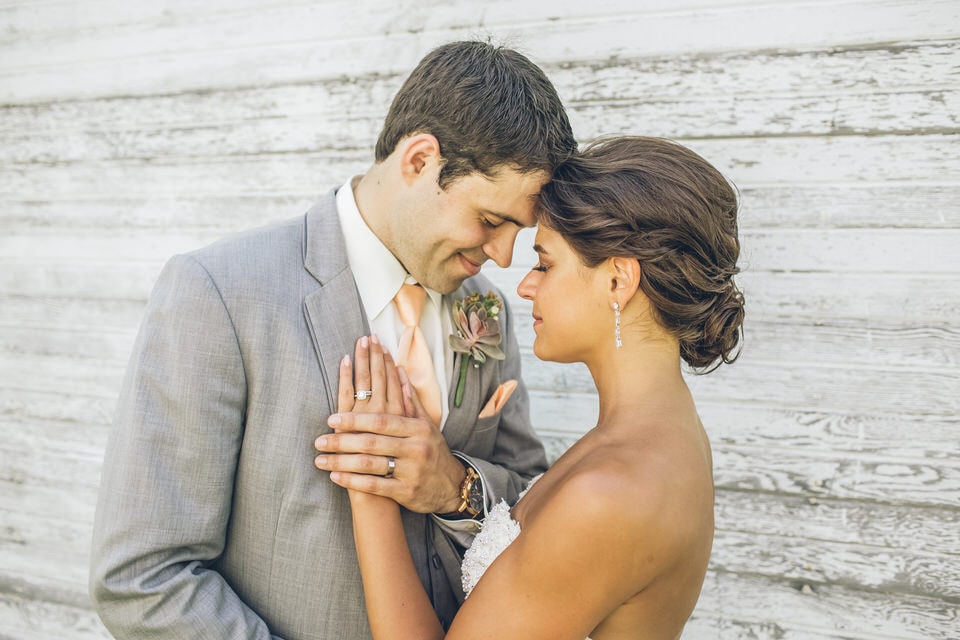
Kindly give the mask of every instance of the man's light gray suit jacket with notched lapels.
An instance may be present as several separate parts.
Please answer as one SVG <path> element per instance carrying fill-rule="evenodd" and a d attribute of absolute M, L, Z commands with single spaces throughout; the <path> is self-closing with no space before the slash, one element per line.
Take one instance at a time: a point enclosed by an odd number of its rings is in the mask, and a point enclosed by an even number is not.
<path fill-rule="evenodd" d="M 453 295 L 491 288 L 479 276 Z M 520 380 L 505 313 L 506 359 L 469 368 L 444 426 L 491 504 L 515 500 L 546 467 L 522 385 L 477 420 L 501 381 Z M 340 358 L 368 332 L 334 192 L 305 216 L 166 265 L 120 395 L 94 526 L 91 595 L 116 637 L 369 637 L 346 492 L 313 466 Z M 404 524 L 448 624 L 463 598 L 460 549 L 429 515 L 405 512 Z"/>

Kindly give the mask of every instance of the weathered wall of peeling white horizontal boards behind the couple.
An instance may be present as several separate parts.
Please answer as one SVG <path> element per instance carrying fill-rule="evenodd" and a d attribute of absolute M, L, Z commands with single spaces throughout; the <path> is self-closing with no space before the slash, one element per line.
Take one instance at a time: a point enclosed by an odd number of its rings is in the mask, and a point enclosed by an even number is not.
<path fill-rule="evenodd" d="M 107 637 L 90 525 L 163 261 L 362 171 L 404 75 L 474 36 L 542 64 L 580 139 L 673 137 L 741 190 L 746 348 L 691 378 L 718 530 L 684 637 L 960 637 L 960 2 L 7 0 L 0 638 Z M 589 379 L 522 336 L 556 453 Z"/>

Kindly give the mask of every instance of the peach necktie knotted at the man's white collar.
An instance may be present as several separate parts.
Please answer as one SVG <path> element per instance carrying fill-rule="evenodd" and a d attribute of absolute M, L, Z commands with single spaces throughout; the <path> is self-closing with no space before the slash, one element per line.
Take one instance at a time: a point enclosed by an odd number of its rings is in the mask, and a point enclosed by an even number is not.
<path fill-rule="evenodd" d="M 443 417 L 440 409 L 440 384 L 433 368 L 433 358 L 427 348 L 427 339 L 419 326 L 426 298 L 426 289 L 418 284 L 404 284 L 393 298 L 393 303 L 397 305 L 397 314 L 405 327 L 397 348 L 397 364 L 406 368 L 420 402 L 433 423 L 439 426 Z"/>

